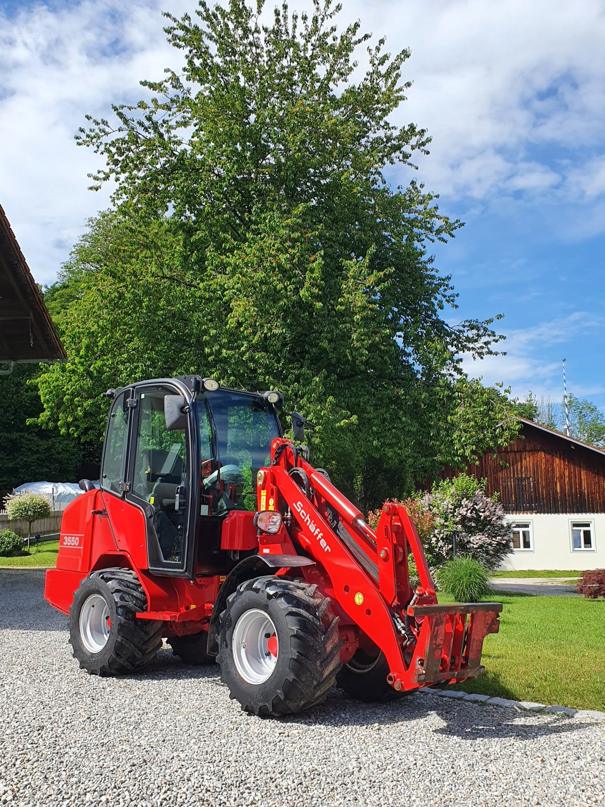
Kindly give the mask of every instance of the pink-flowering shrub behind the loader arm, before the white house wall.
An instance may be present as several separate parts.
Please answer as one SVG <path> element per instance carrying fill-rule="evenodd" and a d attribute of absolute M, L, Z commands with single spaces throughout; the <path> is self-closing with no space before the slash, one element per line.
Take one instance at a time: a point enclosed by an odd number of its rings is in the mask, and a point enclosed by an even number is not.
<path fill-rule="evenodd" d="M 474 558 L 489 570 L 511 552 L 511 527 L 504 520 L 503 507 L 496 496 L 486 494 L 485 481 L 474 476 L 444 479 L 434 483 L 430 492 L 397 504 L 407 507 L 430 567 L 453 558 L 454 533 L 456 554 Z M 376 526 L 378 516 L 380 510 L 369 513 L 370 526 Z"/>

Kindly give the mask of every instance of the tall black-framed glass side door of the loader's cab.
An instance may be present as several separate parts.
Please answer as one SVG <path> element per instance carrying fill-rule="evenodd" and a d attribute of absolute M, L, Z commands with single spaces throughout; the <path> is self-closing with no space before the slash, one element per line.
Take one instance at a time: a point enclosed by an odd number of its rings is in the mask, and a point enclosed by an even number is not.
<path fill-rule="evenodd" d="M 145 515 L 149 569 L 184 577 L 192 565 L 193 445 L 189 418 L 167 429 L 166 395 L 182 391 L 158 383 L 135 389 L 126 498 Z"/>

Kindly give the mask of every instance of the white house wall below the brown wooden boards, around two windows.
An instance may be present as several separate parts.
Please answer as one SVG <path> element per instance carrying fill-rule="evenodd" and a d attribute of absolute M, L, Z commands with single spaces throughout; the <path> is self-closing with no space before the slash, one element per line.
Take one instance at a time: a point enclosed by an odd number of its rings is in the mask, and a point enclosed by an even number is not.
<path fill-rule="evenodd" d="M 605 513 L 508 513 L 507 521 L 531 525 L 532 549 L 513 550 L 500 566 L 502 570 L 605 568 Z M 572 549 L 573 521 L 591 523 L 594 549 Z"/>

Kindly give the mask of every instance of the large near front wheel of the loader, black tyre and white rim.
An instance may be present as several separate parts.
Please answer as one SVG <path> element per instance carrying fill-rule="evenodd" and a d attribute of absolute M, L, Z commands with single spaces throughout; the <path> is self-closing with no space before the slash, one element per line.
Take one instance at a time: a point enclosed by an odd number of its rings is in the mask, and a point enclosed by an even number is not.
<path fill-rule="evenodd" d="M 297 580 L 246 580 L 219 617 L 221 678 L 244 712 L 259 717 L 319 704 L 336 684 L 340 644 L 329 598 Z"/>

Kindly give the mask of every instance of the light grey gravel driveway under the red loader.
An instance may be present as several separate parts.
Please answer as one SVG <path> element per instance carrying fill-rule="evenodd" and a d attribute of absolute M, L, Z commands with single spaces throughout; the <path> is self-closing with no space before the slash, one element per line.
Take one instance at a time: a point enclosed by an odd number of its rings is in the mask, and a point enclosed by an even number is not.
<path fill-rule="evenodd" d="M 594 805 L 605 722 L 333 692 L 303 716 L 240 711 L 216 667 L 162 650 L 143 675 L 79 671 L 44 573 L 0 571 L 0 804 Z"/>

